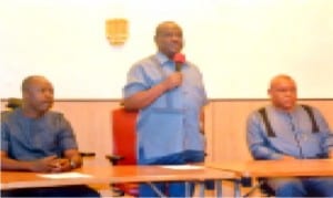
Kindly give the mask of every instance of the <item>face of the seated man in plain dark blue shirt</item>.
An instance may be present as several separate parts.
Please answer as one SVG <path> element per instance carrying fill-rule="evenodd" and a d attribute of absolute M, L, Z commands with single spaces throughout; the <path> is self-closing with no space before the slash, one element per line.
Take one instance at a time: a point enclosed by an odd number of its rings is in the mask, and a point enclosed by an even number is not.
<path fill-rule="evenodd" d="M 23 97 L 29 107 L 38 113 L 49 111 L 53 105 L 53 86 L 44 79 L 33 80 Z"/>

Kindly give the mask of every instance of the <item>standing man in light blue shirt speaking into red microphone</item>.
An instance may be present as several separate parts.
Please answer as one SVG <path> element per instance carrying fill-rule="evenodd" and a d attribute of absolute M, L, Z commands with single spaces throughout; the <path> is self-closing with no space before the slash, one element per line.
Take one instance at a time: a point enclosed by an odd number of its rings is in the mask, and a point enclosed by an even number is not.
<path fill-rule="evenodd" d="M 208 103 L 202 74 L 181 54 L 183 32 L 173 21 L 160 23 L 154 42 L 158 52 L 133 64 L 123 87 L 124 107 L 139 110 L 137 121 L 140 165 L 183 165 L 204 160 L 200 133 Z M 157 184 L 170 197 L 183 197 L 183 183 Z M 165 191 L 168 189 L 168 191 Z M 157 197 L 140 186 L 140 197 Z"/>

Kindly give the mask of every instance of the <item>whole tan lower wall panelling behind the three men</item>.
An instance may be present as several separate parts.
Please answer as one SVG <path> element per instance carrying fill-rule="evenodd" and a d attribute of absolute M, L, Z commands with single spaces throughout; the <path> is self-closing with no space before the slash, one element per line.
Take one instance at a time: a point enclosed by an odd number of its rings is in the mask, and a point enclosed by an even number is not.
<path fill-rule="evenodd" d="M 333 126 L 333 100 L 301 101 L 314 105 Z M 6 104 L 2 103 L 3 107 Z M 248 114 L 268 104 L 265 100 L 215 100 L 205 108 L 208 160 L 248 159 L 245 119 Z M 53 110 L 70 119 L 83 152 L 95 152 L 97 157 L 112 150 L 110 113 L 119 101 L 57 101 Z"/>

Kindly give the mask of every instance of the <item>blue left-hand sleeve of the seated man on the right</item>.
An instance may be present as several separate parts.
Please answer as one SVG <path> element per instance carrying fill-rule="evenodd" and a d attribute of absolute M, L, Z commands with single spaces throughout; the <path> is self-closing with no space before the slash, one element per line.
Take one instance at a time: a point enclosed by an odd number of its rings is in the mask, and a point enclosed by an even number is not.
<path fill-rule="evenodd" d="M 281 154 L 270 147 L 265 126 L 258 112 L 248 117 L 246 142 L 248 147 L 255 159 L 279 159 Z"/>

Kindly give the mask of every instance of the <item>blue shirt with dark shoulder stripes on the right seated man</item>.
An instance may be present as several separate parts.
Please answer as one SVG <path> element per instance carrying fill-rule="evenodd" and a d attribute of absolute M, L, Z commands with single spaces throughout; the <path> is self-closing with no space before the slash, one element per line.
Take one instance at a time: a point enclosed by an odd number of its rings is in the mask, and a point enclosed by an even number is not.
<path fill-rule="evenodd" d="M 333 136 L 321 113 L 312 107 L 317 133 L 312 132 L 312 122 L 305 110 L 297 105 L 286 113 L 266 106 L 268 119 L 275 137 L 269 137 L 264 122 L 258 111 L 248 118 L 248 146 L 256 159 L 279 159 L 282 155 L 295 158 L 320 158 L 333 148 Z"/>

